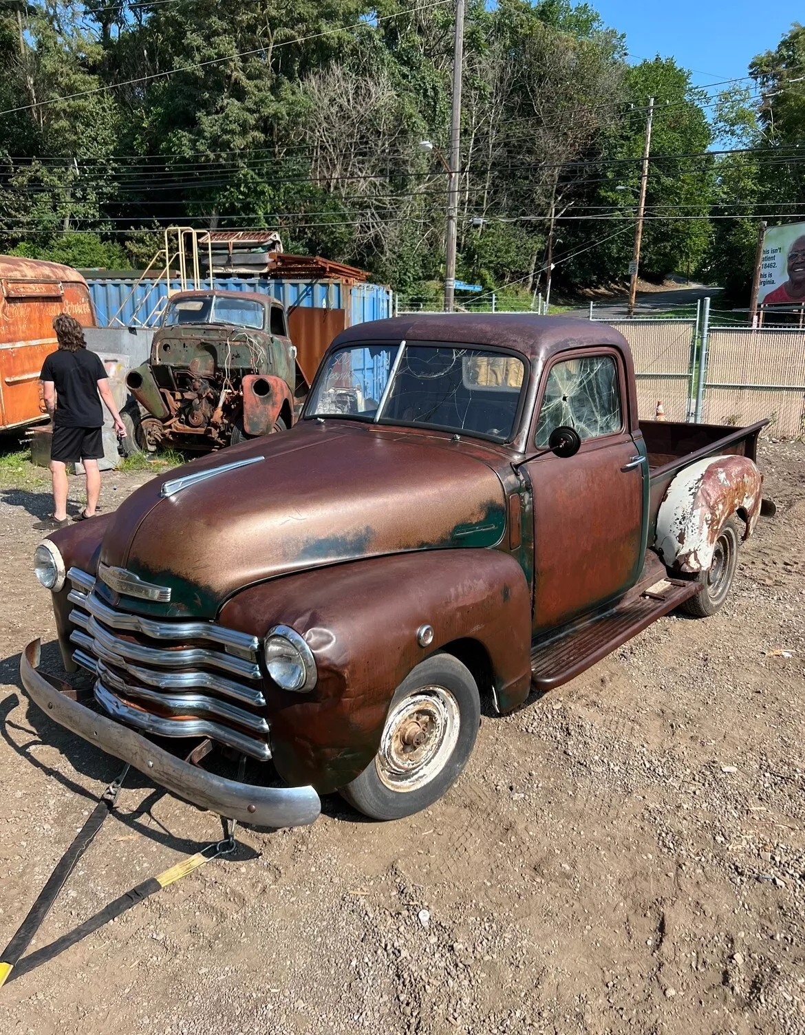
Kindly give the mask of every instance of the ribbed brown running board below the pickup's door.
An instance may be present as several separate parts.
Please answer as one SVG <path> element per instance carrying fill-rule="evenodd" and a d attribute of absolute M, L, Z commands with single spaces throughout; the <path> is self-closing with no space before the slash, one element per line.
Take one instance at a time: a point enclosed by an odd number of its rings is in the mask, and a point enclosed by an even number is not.
<path fill-rule="evenodd" d="M 563 634 L 538 644 L 531 652 L 534 687 L 551 690 L 569 682 L 696 592 L 695 582 L 660 579 L 598 618 L 571 626 Z"/>

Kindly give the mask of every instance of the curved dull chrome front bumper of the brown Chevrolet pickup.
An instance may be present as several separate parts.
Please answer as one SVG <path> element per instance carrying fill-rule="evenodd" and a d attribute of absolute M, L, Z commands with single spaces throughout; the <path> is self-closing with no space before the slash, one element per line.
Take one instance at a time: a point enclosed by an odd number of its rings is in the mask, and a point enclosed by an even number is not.
<path fill-rule="evenodd" d="M 319 817 L 321 801 L 311 787 L 254 787 L 216 776 L 71 701 L 36 671 L 39 651 L 40 642 L 34 640 L 20 659 L 23 686 L 34 704 L 59 726 L 96 744 L 108 755 L 128 762 L 167 790 L 201 808 L 261 827 L 305 826 Z"/>

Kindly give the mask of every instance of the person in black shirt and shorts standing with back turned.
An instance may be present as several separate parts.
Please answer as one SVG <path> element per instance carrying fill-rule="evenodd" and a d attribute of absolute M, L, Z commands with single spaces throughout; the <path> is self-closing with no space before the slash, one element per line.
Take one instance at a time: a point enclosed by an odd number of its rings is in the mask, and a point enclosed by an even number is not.
<path fill-rule="evenodd" d="M 44 405 L 53 421 L 51 476 L 55 509 L 50 518 L 34 526 L 49 531 L 67 524 L 67 464 L 81 461 L 87 475 L 87 505 L 76 521 L 95 513 L 100 496 L 98 461 L 103 455 L 100 400 L 114 418 L 118 436 L 126 434 L 107 372 L 100 358 L 87 350 L 79 321 L 62 313 L 53 321 L 53 329 L 59 349 L 44 360 L 40 378 Z"/>

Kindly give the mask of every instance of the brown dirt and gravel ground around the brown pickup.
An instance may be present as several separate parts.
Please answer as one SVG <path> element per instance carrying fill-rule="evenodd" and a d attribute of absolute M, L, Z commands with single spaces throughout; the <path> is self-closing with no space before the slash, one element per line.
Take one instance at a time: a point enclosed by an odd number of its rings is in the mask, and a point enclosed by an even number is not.
<path fill-rule="evenodd" d="M 120 768 L 21 689 L 29 640 L 56 657 L 25 467 L 0 483 L 0 945 Z M 239 828 L 234 857 L 12 975 L 0 1031 L 805 1033 L 805 446 L 762 467 L 778 513 L 719 615 L 487 713 L 413 819 L 333 797 L 308 828 Z M 105 504 L 146 477 L 107 476 Z M 133 774 L 32 949 L 219 830 Z"/>

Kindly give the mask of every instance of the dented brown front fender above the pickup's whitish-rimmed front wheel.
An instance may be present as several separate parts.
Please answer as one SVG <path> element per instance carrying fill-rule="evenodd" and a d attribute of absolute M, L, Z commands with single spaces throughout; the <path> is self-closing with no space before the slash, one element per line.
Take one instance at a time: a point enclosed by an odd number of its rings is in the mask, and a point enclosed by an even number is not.
<path fill-rule="evenodd" d="M 397 554 L 289 575 L 243 590 L 218 620 L 258 637 L 277 624 L 304 637 L 316 658 L 314 690 L 289 693 L 267 680 L 265 693 L 279 775 L 320 793 L 365 769 L 396 687 L 452 641 L 483 647 L 501 710 L 529 692 L 529 588 L 500 551 Z M 424 624 L 434 627 L 427 647 L 417 642 Z"/>

